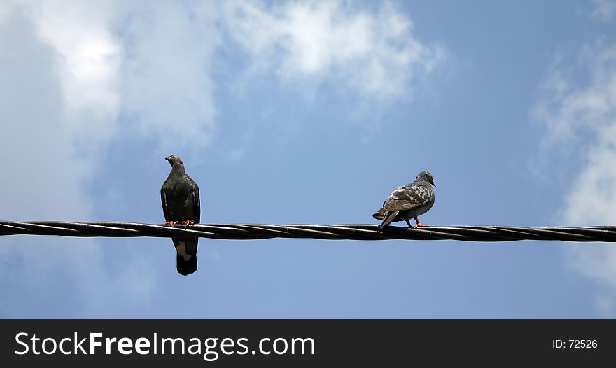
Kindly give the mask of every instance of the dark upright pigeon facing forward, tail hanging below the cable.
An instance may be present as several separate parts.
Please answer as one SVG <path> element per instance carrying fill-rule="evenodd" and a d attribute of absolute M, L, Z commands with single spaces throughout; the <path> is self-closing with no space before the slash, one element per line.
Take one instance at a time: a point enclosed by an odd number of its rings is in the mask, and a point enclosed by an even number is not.
<path fill-rule="evenodd" d="M 180 157 L 165 157 L 172 169 L 160 188 L 162 212 L 165 223 L 189 225 L 198 224 L 201 219 L 199 187 L 184 169 Z M 177 251 L 177 269 L 182 275 L 197 271 L 197 242 L 199 238 L 172 238 Z"/>

